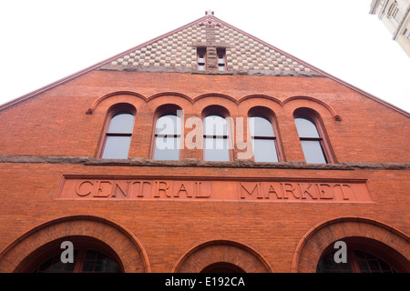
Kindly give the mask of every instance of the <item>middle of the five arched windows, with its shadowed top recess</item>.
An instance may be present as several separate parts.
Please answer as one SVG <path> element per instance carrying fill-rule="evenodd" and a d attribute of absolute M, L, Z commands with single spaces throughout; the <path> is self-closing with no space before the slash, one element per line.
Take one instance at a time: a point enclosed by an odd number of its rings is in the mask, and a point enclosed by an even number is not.
<path fill-rule="evenodd" d="M 205 161 L 231 161 L 229 112 L 219 105 L 203 111 L 203 158 Z"/>

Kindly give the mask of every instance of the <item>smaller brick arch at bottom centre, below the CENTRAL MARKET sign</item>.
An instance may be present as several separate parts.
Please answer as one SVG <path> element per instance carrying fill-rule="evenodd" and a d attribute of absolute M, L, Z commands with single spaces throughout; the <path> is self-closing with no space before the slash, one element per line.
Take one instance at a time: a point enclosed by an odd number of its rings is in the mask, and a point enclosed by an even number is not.
<path fill-rule="evenodd" d="M 228 263 L 240 267 L 246 273 L 272 273 L 269 263 L 249 246 L 240 243 L 215 240 L 195 246 L 179 258 L 173 273 L 200 273 L 205 267 Z"/>

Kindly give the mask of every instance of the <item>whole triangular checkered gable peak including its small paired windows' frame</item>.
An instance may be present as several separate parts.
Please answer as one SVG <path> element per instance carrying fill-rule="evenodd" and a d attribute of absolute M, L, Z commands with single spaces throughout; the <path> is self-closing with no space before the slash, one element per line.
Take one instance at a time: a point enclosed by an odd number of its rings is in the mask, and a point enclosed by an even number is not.
<path fill-rule="evenodd" d="M 206 51 L 207 64 L 198 70 L 197 50 Z M 216 50 L 225 55 L 220 71 Z M 176 72 L 196 74 L 322 76 L 310 65 L 262 42 L 217 18 L 208 10 L 205 16 L 148 43 L 119 55 L 101 70 Z"/>

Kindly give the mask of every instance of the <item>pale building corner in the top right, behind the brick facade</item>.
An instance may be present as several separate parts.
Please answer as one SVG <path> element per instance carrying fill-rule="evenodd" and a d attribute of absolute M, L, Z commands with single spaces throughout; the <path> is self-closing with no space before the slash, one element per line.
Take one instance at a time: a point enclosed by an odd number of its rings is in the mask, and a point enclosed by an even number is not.
<path fill-rule="evenodd" d="M 370 14 L 379 17 L 393 39 L 410 56 L 410 1 L 373 0 Z"/>

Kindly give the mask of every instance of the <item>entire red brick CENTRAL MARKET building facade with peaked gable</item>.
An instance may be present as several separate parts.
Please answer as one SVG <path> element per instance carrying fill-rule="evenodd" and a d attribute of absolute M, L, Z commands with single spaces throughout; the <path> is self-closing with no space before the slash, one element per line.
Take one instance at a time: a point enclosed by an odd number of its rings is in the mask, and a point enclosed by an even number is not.
<path fill-rule="evenodd" d="M 409 132 L 205 15 L 0 107 L 0 271 L 408 272 Z"/>

